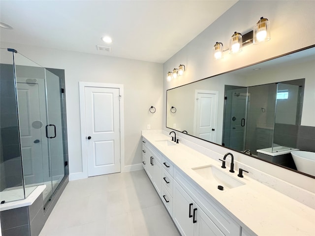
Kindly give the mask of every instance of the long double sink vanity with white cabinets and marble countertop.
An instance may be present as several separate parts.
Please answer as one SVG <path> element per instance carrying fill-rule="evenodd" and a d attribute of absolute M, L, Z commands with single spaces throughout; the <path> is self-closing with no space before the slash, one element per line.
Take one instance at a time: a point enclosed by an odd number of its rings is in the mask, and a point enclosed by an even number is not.
<path fill-rule="evenodd" d="M 171 139 L 143 131 L 142 163 L 181 235 L 315 235 L 315 209 L 249 177 L 231 153 Z"/>

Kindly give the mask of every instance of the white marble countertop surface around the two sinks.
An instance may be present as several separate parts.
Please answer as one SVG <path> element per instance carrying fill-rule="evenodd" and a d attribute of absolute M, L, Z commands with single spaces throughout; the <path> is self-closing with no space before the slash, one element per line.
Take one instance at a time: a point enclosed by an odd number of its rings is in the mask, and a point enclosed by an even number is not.
<path fill-rule="evenodd" d="M 248 177 L 247 173 L 243 173 L 244 178 L 237 177 L 237 170 L 230 173 L 230 157 L 226 159 L 226 169 L 222 169 L 221 162 L 183 144 L 163 146 L 161 142 L 156 142 L 171 140 L 170 136 L 158 132 L 143 132 L 142 136 L 215 198 L 223 210 L 233 214 L 258 236 L 315 236 L 315 209 Z M 209 180 L 191 169 L 206 165 L 220 168 L 245 185 L 224 191 L 218 190 L 209 184 Z"/>

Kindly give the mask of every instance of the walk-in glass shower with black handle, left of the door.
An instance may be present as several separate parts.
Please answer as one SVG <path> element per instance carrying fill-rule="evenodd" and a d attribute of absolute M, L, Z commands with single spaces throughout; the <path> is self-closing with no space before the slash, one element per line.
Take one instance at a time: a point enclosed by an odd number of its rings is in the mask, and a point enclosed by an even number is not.
<path fill-rule="evenodd" d="M 45 207 L 68 176 L 64 71 L 0 50 L 0 200 L 45 184 Z"/>

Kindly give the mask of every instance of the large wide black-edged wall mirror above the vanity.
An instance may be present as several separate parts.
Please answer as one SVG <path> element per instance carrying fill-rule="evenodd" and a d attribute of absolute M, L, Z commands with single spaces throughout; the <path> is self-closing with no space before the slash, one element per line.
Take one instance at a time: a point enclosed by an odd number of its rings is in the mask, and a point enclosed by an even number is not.
<path fill-rule="evenodd" d="M 314 46 L 167 90 L 166 127 L 315 177 Z"/>

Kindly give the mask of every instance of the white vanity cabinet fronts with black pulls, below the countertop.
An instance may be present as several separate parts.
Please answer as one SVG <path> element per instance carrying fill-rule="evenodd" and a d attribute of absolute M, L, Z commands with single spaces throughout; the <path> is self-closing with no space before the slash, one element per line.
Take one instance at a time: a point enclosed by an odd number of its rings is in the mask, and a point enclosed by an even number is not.
<path fill-rule="evenodd" d="M 144 169 L 183 236 L 240 236 L 241 227 L 199 185 L 143 139 Z M 243 236 L 243 235 L 242 235 Z M 244 232 L 244 236 L 247 236 Z"/>

